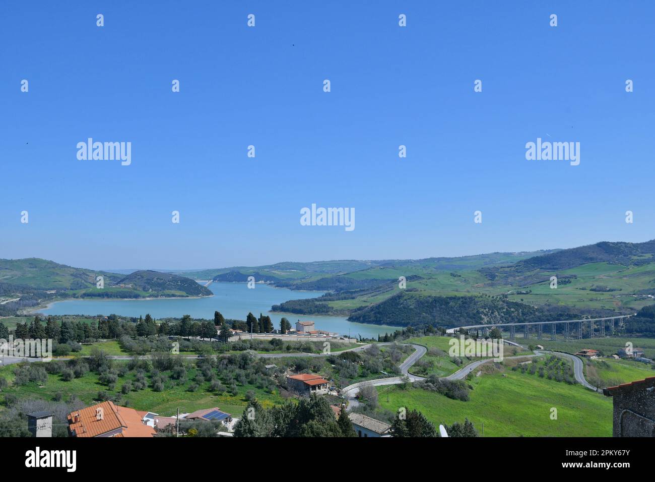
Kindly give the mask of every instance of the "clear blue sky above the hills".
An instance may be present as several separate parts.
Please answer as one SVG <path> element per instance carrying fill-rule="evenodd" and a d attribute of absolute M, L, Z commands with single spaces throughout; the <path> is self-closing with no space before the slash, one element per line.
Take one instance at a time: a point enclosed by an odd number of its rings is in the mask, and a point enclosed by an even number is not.
<path fill-rule="evenodd" d="M 41 4 L 0 17 L 0 258 L 210 268 L 655 237 L 650 1 Z M 132 164 L 79 161 L 88 137 L 132 142 Z M 538 137 L 580 142 L 580 165 L 527 161 Z M 355 230 L 301 226 L 312 203 L 353 207 Z"/>

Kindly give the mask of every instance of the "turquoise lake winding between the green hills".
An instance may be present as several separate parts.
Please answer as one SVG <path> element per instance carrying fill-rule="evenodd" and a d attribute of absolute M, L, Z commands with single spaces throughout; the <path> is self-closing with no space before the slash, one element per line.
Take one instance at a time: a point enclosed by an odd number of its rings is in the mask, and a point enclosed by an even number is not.
<path fill-rule="evenodd" d="M 248 289 L 246 283 L 212 283 L 208 288 L 214 293 L 214 296 L 166 300 L 65 300 L 54 302 L 47 309 L 39 310 L 39 313 L 45 315 L 111 315 L 115 313 L 135 317 L 150 313 L 155 318 L 179 318 L 183 315 L 191 315 L 193 318 L 214 319 L 214 311 L 218 310 L 226 318 L 244 320 L 248 311 L 252 311 L 253 315 L 257 317 L 259 313 L 267 313 L 276 328 L 280 326 L 280 319 L 286 316 L 291 321 L 291 325 L 294 325 L 297 320 L 312 320 L 316 323 L 317 330 L 346 335 L 350 331 L 350 336 L 362 335 L 367 338 L 385 332 L 394 332 L 398 329 L 398 327 L 386 325 L 351 323 L 346 321 L 345 317 L 339 316 L 269 313 L 274 304 L 301 298 L 316 298 L 323 292 L 291 291 L 264 284 L 257 284 L 254 289 Z"/>

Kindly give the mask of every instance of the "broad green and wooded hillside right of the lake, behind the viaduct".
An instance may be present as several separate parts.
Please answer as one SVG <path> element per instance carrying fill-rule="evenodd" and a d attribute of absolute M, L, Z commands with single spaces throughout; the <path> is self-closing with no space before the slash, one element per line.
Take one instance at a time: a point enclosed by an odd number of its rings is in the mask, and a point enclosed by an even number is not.
<path fill-rule="evenodd" d="M 485 323 L 484 319 L 506 316 L 531 319 L 537 315 L 527 310 L 514 313 L 506 307 L 487 306 L 488 303 L 481 302 L 478 297 L 487 295 L 538 308 L 539 316 L 546 317 L 544 319 L 553 312 L 560 315 L 634 313 L 655 302 L 654 251 L 655 241 L 603 241 L 540 252 L 536 256 L 521 253 L 513 262 L 509 262 L 512 257 L 507 253 L 448 261 L 430 258 L 396 264 L 387 262 L 367 270 L 282 283 L 296 289 L 305 287 L 331 292 L 313 299 L 290 300 L 273 306 L 272 310 L 307 315 L 350 315 L 351 321 L 390 325 L 403 325 L 407 320 L 415 325 L 428 321 L 428 324 L 441 325 L 442 319 L 449 320 L 451 325 L 462 325 L 466 323 L 459 323 L 460 317 Z M 449 270 L 443 269 L 446 267 Z M 407 280 L 405 290 L 398 286 L 400 276 Z M 556 289 L 551 288 L 552 276 L 558 280 Z M 350 282 L 345 283 L 345 279 Z M 459 305 L 453 302 L 462 303 L 457 297 L 472 298 L 467 300 L 471 305 L 465 313 L 455 309 Z"/>

